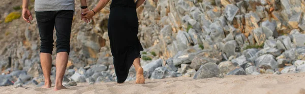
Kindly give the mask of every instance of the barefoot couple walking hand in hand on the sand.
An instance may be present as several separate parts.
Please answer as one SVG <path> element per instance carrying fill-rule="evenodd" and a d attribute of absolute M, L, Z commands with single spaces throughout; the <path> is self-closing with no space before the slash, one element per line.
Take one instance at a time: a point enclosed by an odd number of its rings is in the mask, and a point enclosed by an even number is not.
<path fill-rule="evenodd" d="M 33 20 L 28 10 L 29 0 L 23 0 L 22 17 L 31 23 Z M 129 69 L 134 65 L 136 69 L 136 83 L 144 83 L 143 68 L 140 65 L 140 51 L 142 45 L 137 37 L 138 17 L 136 8 L 145 0 L 112 0 L 108 19 L 108 36 L 113 56 L 113 65 L 117 83 L 124 83 Z M 100 0 L 98 5 L 89 10 L 86 0 L 81 2 L 81 19 L 89 22 L 92 17 L 100 12 L 109 0 Z M 44 75 L 43 88 L 51 87 L 51 67 L 53 50 L 53 30 L 56 30 L 56 79 L 53 90 L 66 89 L 63 86 L 63 77 L 66 71 L 70 53 L 70 35 L 74 15 L 74 0 L 35 0 L 35 13 L 40 34 L 40 61 Z"/>

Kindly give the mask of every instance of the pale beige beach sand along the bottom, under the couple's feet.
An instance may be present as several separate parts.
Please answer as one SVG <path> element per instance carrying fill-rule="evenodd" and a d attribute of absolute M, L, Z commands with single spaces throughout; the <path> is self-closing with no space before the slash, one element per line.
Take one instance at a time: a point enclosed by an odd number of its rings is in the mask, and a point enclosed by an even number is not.
<path fill-rule="evenodd" d="M 282 75 L 226 76 L 194 80 L 188 77 L 150 80 L 146 84 L 115 82 L 88 85 L 78 83 L 69 89 L 53 91 L 35 86 L 0 87 L 0 93 L 305 93 L 305 73 Z"/>

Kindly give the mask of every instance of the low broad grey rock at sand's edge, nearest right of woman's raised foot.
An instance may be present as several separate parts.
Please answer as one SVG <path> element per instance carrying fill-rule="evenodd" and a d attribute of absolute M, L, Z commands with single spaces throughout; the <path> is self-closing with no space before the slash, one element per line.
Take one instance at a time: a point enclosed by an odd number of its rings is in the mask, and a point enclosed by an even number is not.
<path fill-rule="evenodd" d="M 163 79 L 163 78 L 170 78 L 170 77 L 177 77 L 174 71 L 168 70 L 165 67 L 158 67 L 153 74 L 151 74 L 151 79 Z"/>

